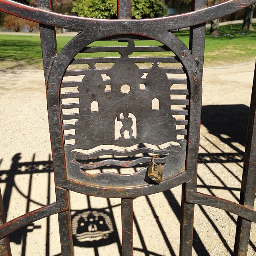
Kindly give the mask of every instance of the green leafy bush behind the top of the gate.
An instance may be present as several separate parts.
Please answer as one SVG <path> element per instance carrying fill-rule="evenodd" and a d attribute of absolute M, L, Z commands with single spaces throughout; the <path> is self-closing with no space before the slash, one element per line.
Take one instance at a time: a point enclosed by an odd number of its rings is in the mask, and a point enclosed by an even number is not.
<path fill-rule="evenodd" d="M 72 12 L 88 18 L 117 18 L 116 0 L 76 0 Z M 167 15 L 159 0 L 132 0 L 132 18 L 155 18 Z"/>

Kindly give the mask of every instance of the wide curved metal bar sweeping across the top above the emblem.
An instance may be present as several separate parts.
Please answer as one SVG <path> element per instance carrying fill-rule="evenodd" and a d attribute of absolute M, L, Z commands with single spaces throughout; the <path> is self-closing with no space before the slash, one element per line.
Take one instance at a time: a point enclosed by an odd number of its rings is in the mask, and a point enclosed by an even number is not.
<path fill-rule="evenodd" d="M 218 5 L 208 8 L 202 8 L 194 12 L 183 13 L 163 18 L 141 19 L 141 20 L 111 20 L 111 19 L 95 19 L 83 18 L 73 15 L 65 15 L 60 13 L 43 10 L 40 8 L 17 3 L 12 0 L 0 0 L 0 11 L 9 13 L 20 18 L 32 20 L 37 23 L 74 30 L 90 30 L 102 26 L 105 28 L 108 24 L 116 28 L 123 27 L 123 23 L 127 24 L 134 30 L 138 26 L 158 27 L 160 30 L 175 30 L 189 26 L 195 26 L 210 20 L 215 20 L 222 16 L 241 10 L 252 5 L 255 0 L 229 0 Z"/>

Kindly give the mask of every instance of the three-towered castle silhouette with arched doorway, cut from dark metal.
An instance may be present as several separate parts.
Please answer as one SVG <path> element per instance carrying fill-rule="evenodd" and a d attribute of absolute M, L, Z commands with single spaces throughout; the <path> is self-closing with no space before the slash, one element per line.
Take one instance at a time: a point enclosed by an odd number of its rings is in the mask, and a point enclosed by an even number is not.
<path fill-rule="evenodd" d="M 115 58 L 112 68 L 96 69 L 95 63 L 90 63 L 84 72 L 78 86 L 79 114 L 72 148 L 178 141 L 170 108 L 172 79 L 158 62 L 153 62 L 145 74 L 145 69 L 128 57 L 130 43 L 120 58 Z"/>

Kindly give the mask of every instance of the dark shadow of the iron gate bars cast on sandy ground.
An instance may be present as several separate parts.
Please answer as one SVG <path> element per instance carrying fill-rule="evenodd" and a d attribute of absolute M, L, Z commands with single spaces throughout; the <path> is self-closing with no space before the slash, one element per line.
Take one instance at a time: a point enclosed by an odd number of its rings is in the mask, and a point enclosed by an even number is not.
<path fill-rule="evenodd" d="M 207 147 L 204 145 L 200 145 L 204 148 L 206 153 L 199 154 L 199 163 L 204 164 L 210 173 L 213 174 L 213 170 L 209 164 L 211 163 L 219 163 L 225 168 L 225 170 L 233 175 L 233 177 L 241 182 L 240 178 L 237 177 L 236 173 L 233 173 L 233 170 L 228 169 L 224 163 L 232 162 L 238 164 L 241 168 L 243 163 L 243 151 L 240 148 L 236 147 L 236 143 L 241 144 L 242 146 L 245 145 L 245 138 L 246 138 L 246 128 L 247 128 L 247 120 L 248 120 L 248 111 L 249 108 L 245 105 L 209 105 L 202 107 L 202 124 L 208 129 L 208 131 L 218 137 L 220 141 L 227 144 L 230 148 L 232 148 L 235 153 L 226 153 L 218 145 L 211 141 L 210 139 L 206 138 L 210 144 L 219 148 L 221 153 L 210 153 Z M 31 198 L 31 186 L 33 182 L 33 175 L 35 174 L 48 174 L 48 203 L 50 203 L 50 174 L 53 172 L 53 166 L 51 157 L 49 156 L 48 161 L 35 161 L 35 156 L 33 156 L 32 160 L 29 162 L 20 162 L 21 154 L 15 154 L 12 159 L 12 165 L 9 170 L 1 170 L 1 183 L 6 184 L 5 192 L 3 193 L 3 203 L 5 207 L 5 212 L 8 212 L 10 206 L 10 200 L 13 189 L 16 189 L 24 198 L 26 198 L 26 211 L 29 211 L 29 204 L 34 202 L 41 207 L 42 205 L 38 202 L 35 202 Z M 101 159 L 102 160 L 102 159 Z M 111 168 L 113 166 L 110 166 Z M 20 174 L 28 174 L 29 175 L 29 183 L 28 183 L 28 195 L 24 195 L 22 191 L 18 188 L 15 184 L 15 176 Z M 207 178 L 207 177 L 206 177 Z M 236 196 L 234 191 L 240 190 L 235 187 L 226 187 L 225 182 L 220 178 L 217 177 L 222 186 L 215 186 L 215 185 L 207 185 L 207 179 L 205 177 L 198 177 L 201 185 L 198 185 L 199 188 L 205 188 L 209 192 L 210 195 L 215 196 L 215 193 L 212 192 L 212 189 L 225 189 L 233 197 L 236 198 L 238 201 L 239 198 Z M 179 202 L 174 197 L 174 194 L 171 190 L 167 190 L 163 192 L 164 197 L 169 203 L 170 209 L 174 212 L 177 219 L 180 221 L 180 214 L 181 214 L 181 207 Z M 94 248 L 95 255 L 99 255 L 98 248 L 102 245 L 107 245 L 110 243 L 117 243 L 119 253 L 121 255 L 121 242 L 119 240 L 119 236 L 117 233 L 117 228 L 115 224 L 115 219 L 113 215 L 113 208 L 118 207 L 120 205 L 111 205 L 110 200 L 108 200 L 108 207 L 102 209 L 93 209 L 90 206 L 90 197 L 87 196 L 88 208 L 84 210 L 72 210 L 72 226 L 73 228 L 80 227 L 79 232 L 73 235 L 74 239 L 74 246 L 79 247 L 91 247 Z M 146 196 L 146 202 L 151 209 L 151 214 L 154 216 L 156 221 L 156 225 L 158 226 L 159 230 L 161 231 L 162 241 L 166 244 L 167 248 L 169 249 L 170 255 L 175 255 L 173 246 L 168 239 L 167 234 L 164 231 L 163 223 L 159 220 L 159 217 L 156 214 L 156 210 L 154 209 L 149 197 Z M 215 225 L 214 221 L 210 218 L 207 212 L 204 210 L 202 206 L 200 206 L 200 210 L 202 211 L 203 215 L 209 220 L 212 227 L 215 229 L 216 233 L 218 234 L 220 240 L 222 241 L 225 248 L 232 254 L 233 248 L 228 246 L 225 238 L 222 236 L 220 230 L 218 230 L 217 226 Z M 230 215 L 229 212 L 226 212 L 228 217 L 236 223 L 236 219 Z M 90 221 L 91 223 L 88 224 L 86 221 Z M 145 242 L 145 238 L 143 237 L 142 230 L 140 227 L 140 223 L 138 218 L 136 218 L 136 212 L 133 217 L 134 224 L 136 226 L 136 230 L 138 232 L 138 236 L 142 245 L 142 248 L 134 248 L 135 251 L 143 252 L 145 255 L 153 255 L 153 256 L 162 256 L 161 253 L 154 253 L 148 250 Z M 83 225 L 80 225 L 83 223 Z M 82 227 L 82 228 L 81 228 Z M 30 232 L 33 232 L 34 229 L 41 228 L 41 226 L 30 224 L 26 227 L 15 231 L 13 234 L 10 235 L 10 241 L 16 244 L 20 244 L 22 246 L 21 255 L 26 255 L 26 241 L 27 235 Z M 78 234 L 78 236 L 77 236 Z M 90 237 L 90 239 L 88 239 Z M 95 239 L 91 239 L 91 237 Z M 46 245 L 44 250 L 44 255 L 49 256 L 49 241 L 50 241 L 50 230 L 49 230 L 49 218 L 47 218 L 47 227 L 46 227 Z M 253 243 L 250 241 L 250 245 L 256 250 Z M 198 235 L 197 231 L 194 229 L 194 237 L 193 237 L 193 247 L 198 255 L 210 255 L 207 252 L 207 248 L 205 248 L 200 236 Z M 60 255 L 60 254 L 58 254 Z M 57 255 L 56 255 L 57 256 Z"/>

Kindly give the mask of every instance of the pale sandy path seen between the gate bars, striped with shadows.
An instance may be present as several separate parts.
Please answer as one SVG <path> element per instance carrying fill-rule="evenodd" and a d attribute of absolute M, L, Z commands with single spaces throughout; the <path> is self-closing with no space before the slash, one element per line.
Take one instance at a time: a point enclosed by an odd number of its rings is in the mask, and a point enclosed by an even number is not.
<path fill-rule="evenodd" d="M 250 62 L 204 70 L 198 190 L 234 202 L 239 198 L 254 65 Z M 49 167 L 51 148 L 43 72 L 0 70 L 0 89 L 1 189 L 5 202 L 10 200 L 7 206 L 10 220 L 40 204 L 54 202 L 54 181 Z M 32 169 L 38 173 L 31 175 Z M 176 187 L 134 200 L 135 255 L 178 254 L 180 193 L 181 188 Z M 111 220 L 118 228 L 118 236 L 109 245 L 84 248 L 75 243 L 76 255 L 95 255 L 95 252 L 118 255 L 120 201 L 88 199 L 71 193 L 71 203 L 73 214 L 88 206 L 104 209 L 114 216 Z M 197 206 L 193 254 L 230 255 L 236 228 L 233 216 Z M 29 256 L 45 255 L 45 251 L 59 255 L 58 236 L 56 216 L 40 220 L 10 236 L 13 255 L 24 255 L 25 251 Z M 255 243 L 253 224 L 248 255 L 254 255 Z"/>

